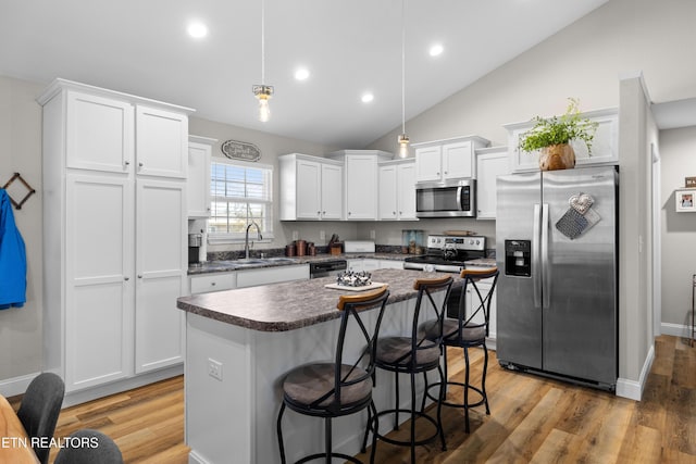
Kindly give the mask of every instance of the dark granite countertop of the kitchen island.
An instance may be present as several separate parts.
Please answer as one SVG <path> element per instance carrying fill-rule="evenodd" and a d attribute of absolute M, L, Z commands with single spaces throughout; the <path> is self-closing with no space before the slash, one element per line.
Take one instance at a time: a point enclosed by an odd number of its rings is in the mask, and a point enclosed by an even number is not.
<path fill-rule="evenodd" d="M 335 256 L 334 256 L 335 258 Z M 437 273 L 403 269 L 377 269 L 372 280 L 389 285 L 388 303 L 417 296 L 413 281 Z M 457 275 L 455 286 L 461 285 Z M 298 280 L 261 287 L 182 297 L 176 306 L 183 311 L 260 331 L 286 331 L 338 318 L 338 297 L 352 293 L 325 288 L 335 277 Z"/>

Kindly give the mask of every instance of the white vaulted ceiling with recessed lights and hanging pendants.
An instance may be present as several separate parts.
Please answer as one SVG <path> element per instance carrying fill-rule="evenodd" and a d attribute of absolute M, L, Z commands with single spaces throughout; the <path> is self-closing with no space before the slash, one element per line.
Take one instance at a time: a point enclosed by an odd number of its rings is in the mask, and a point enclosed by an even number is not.
<path fill-rule="evenodd" d="M 401 124 L 607 0 L 0 0 L 0 74 L 63 77 L 199 117 L 341 148 Z M 208 35 L 187 34 L 202 22 Z M 406 73 L 401 74 L 405 32 Z M 440 45 L 438 57 L 428 53 Z M 297 80 L 296 70 L 309 77 Z M 371 92 L 374 99 L 363 103 Z"/>

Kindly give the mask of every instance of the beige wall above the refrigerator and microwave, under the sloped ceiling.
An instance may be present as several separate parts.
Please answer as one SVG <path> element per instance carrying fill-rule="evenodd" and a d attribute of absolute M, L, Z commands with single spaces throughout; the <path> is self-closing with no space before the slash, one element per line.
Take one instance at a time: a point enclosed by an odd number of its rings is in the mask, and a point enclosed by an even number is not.
<path fill-rule="evenodd" d="M 475 134 L 506 145 L 504 124 L 619 104 L 620 73 L 642 70 L 654 102 L 696 97 L 696 2 L 610 0 L 604 7 L 406 123 L 411 142 Z M 490 34 L 505 35 L 492 25 Z M 514 37 L 510 37 L 514 40 Z M 408 83 L 408 76 L 407 76 Z M 408 108 L 409 92 L 406 90 Z M 400 127 L 371 149 L 395 151 Z"/>

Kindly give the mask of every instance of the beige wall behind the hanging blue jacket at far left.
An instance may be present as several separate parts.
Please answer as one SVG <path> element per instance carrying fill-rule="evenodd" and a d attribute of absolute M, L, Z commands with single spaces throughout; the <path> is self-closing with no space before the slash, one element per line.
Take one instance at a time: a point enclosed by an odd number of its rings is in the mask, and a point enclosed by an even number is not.
<path fill-rule="evenodd" d="M 0 76 L 0 187 L 20 173 L 36 189 L 21 210 L 13 210 L 27 252 L 27 301 L 0 311 L 0 392 L 4 380 L 41 369 L 41 110 L 34 101 L 40 89 Z"/>

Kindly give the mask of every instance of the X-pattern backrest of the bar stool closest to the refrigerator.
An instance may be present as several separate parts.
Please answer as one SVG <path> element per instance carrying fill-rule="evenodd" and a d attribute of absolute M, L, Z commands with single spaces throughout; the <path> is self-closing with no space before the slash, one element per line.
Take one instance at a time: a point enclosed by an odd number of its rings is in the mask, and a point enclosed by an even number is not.
<path fill-rule="evenodd" d="M 493 301 L 493 294 L 496 290 L 496 284 L 498 283 L 498 268 L 486 267 L 483 269 L 462 269 L 460 277 L 464 279 L 464 285 L 461 288 L 461 298 L 459 299 L 459 325 L 458 325 L 458 338 L 462 339 L 462 330 L 464 327 L 485 327 L 486 336 L 488 336 L 488 326 L 490 318 L 490 302 Z M 478 281 L 482 279 L 493 278 L 490 289 L 485 294 L 481 292 Z M 467 291 L 471 290 L 471 311 L 467 314 Z M 474 318 L 483 314 L 483 323 L 474 323 Z M 447 336 L 448 334 L 445 334 Z"/>

